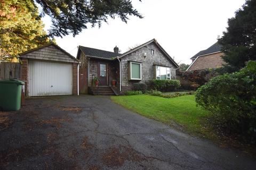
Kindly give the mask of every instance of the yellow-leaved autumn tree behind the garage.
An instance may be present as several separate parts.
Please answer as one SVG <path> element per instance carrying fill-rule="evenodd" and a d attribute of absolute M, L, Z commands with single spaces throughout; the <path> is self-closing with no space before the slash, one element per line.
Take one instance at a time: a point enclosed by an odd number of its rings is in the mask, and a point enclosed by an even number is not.
<path fill-rule="evenodd" d="M 0 60 L 50 41 L 33 1 L 0 0 Z"/>

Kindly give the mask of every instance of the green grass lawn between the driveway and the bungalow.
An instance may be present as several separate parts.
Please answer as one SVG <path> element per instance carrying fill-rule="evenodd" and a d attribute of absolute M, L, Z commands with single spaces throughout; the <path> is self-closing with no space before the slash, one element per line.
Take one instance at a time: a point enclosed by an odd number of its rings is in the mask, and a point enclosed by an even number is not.
<path fill-rule="evenodd" d="M 209 139 L 216 137 L 209 126 L 205 125 L 205 118 L 210 113 L 196 106 L 194 95 L 175 98 L 150 95 L 112 96 L 111 99 L 134 112 L 165 124 L 172 125 L 174 121 L 190 134 Z"/>

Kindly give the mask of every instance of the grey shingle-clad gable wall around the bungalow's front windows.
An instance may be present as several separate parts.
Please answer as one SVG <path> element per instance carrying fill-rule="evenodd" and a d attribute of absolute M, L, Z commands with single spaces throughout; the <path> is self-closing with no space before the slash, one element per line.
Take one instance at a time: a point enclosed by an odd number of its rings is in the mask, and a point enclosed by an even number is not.
<path fill-rule="evenodd" d="M 151 49 L 154 49 L 155 54 L 151 55 Z M 144 53 L 147 53 L 146 57 Z M 140 62 L 141 63 L 141 71 L 142 71 L 142 80 L 134 81 L 128 80 L 128 62 Z M 167 58 L 165 54 L 155 45 L 155 43 L 151 43 L 145 47 L 140 48 L 139 50 L 126 55 L 121 58 L 122 62 L 122 92 L 131 90 L 132 84 L 137 82 L 147 83 L 149 80 L 154 79 L 154 65 L 161 65 L 171 68 L 171 79 L 176 79 L 176 67 L 174 64 Z"/>

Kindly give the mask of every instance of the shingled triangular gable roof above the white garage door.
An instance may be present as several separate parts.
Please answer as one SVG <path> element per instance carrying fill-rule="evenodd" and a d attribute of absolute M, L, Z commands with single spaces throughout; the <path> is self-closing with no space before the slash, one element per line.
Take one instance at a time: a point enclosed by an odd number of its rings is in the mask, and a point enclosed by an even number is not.
<path fill-rule="evenodd" d="M 27 52 L 21 53 L 20 58 L 78 63 L 78 60 L 73 55 L 54 43 L 30 49 Z"/>

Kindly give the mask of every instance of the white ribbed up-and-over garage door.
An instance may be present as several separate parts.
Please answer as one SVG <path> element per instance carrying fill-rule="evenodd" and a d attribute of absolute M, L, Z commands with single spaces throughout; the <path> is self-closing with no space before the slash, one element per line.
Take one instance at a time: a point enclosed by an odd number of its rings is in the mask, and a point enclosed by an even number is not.
<path fill-rule="evenodd" d="M 72 64 L 28 61 L 28 95 L 72 95 Z"/>

